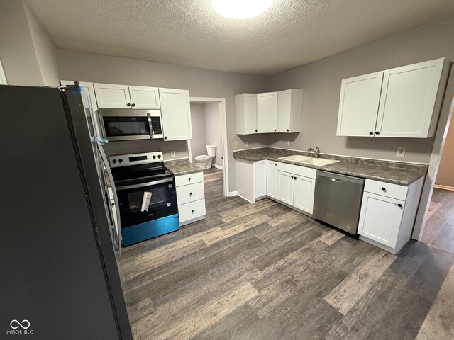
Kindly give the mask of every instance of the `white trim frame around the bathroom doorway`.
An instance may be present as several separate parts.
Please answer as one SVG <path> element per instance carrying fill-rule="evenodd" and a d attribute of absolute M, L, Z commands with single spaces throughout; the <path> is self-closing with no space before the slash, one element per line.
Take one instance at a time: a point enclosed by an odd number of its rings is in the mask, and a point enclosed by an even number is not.
<path fill-rule="evenodd" d="M 221 140 L 222 140 L 222 182 L 223 196 L 231 196 L 228 186 L 228 157 L 227 152 L 227 117 L 226 117 L 226 98 L 213 97 L 189 97 L 189 103 L 219 103 L 219 121 L 221 122 Z M 189 162 L 192 163 L 191 140 L 187 140 L 187 150 L 189 154 Z"/>

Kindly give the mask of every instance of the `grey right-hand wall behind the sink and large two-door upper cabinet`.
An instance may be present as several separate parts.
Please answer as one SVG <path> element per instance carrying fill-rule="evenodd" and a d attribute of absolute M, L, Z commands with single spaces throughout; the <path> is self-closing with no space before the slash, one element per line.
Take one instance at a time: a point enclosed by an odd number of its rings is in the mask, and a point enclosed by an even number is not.
<path fill-rule="evenodd" d="M 270 146 L 285 148 L 289 139 L 290 149 L 317 145 L 330 154 L 428 163 L 433 137 L 336 137 L 341 80 L 439 57 L 454 60 L 453 32 L 451 16 L 269 77 L 269 91 L 304 89 L 301 133 L 270 135 Z M 397 147 L 406 147 L 404 158 L 396 157 Z"/>

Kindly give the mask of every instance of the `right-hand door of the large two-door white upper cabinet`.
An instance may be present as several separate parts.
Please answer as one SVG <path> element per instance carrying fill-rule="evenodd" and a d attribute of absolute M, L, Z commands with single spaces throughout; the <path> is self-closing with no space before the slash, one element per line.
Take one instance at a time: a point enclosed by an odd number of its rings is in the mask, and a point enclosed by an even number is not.
<path fill-rule="evenodd" d="M 384 72 L 377 119 L 380 137 L 433 136 L 435 102 L 444 59 L 420 62 Z"/>

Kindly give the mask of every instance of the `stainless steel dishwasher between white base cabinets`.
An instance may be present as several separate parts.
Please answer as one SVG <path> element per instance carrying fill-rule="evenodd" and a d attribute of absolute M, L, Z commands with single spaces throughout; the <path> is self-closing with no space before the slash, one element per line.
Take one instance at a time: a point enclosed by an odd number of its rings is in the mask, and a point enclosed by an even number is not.
<path fill-rule="evenodd" d="M 364 179 L 317 170 L 314 217 L 355 235 L 363 188 Z"/>

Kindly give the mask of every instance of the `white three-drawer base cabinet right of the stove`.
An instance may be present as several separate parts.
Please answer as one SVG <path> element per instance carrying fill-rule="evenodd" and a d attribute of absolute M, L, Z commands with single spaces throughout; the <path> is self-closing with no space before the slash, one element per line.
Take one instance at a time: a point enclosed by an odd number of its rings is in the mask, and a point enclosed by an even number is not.
<path fill-rule="evenodd" d="M 175 176 L 179 225 L 203 220 L 206 215 L 204 174 Z"/>

